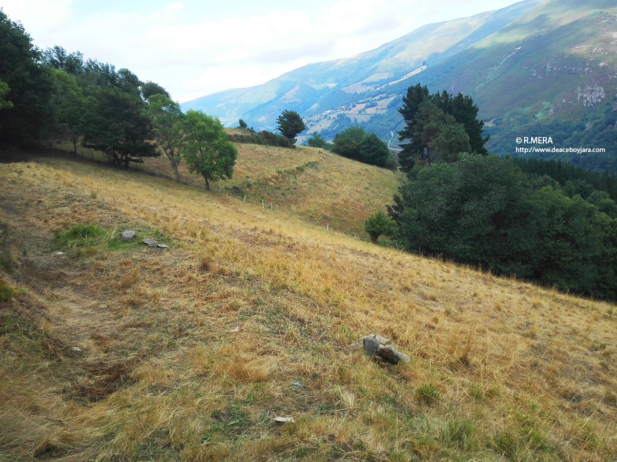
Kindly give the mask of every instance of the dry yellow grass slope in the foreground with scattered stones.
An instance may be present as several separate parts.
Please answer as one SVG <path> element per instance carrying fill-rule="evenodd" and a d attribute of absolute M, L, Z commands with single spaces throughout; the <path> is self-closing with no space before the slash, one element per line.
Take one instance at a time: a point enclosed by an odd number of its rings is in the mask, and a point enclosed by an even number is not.
<path fill-rule="evenodd" d="M 62 159 L 0 165 L 0 276 L 4 460 L 617 456 L 610 304 Z"/>

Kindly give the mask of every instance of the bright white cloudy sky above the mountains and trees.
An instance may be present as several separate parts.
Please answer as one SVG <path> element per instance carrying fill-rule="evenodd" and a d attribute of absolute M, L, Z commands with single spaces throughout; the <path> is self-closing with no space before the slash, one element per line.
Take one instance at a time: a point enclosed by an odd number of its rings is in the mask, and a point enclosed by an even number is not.
<path fill-rule="evenodd" d="M 2 0 L 41 48 L 126 67 L 184 102 L 374 49 L 513 0 Z"/>

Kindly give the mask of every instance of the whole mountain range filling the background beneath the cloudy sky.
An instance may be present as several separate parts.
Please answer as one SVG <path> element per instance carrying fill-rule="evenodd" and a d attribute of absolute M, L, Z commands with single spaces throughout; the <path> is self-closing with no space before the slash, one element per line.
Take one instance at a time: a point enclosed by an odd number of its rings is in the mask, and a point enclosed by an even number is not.
<path fill-rule="evenodd" d="M 268 130 L 283 109 L 295 110 L 307 126 L 300 142 L 314 131 L 332 139 L 359 124 L 396 147 L 403 125 L 397 109 L 418 82 L 431 91 L 470 94 L 492 152 L 516 155 L 515 139 L 523 136 L 551 137 L 557 147 L 589 142 L 589 148 L 610 150 L 617 138 L 617 4 L 525 0 L 429 24 L 377 49 L 182 107 L 215 115 L 227 126 L 243 118 Z M 595 162 L 592 168 L 617 168 L 608 156 L 566 156 Z"/>

